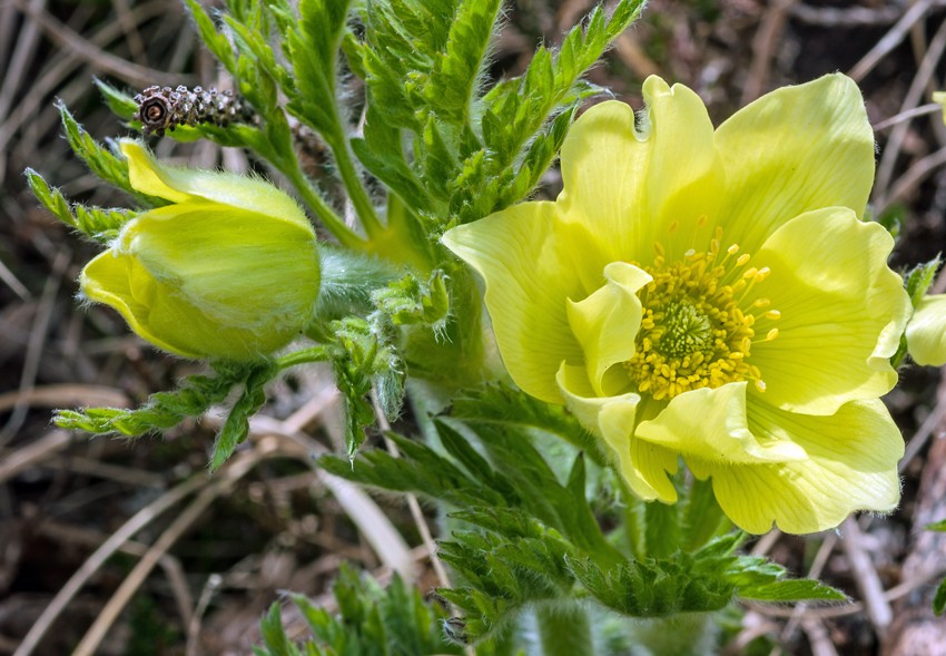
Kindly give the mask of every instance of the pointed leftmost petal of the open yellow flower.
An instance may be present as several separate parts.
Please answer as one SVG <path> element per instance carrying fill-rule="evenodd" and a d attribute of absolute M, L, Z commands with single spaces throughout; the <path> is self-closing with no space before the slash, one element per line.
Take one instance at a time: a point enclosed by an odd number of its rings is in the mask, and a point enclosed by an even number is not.
<path fill-rule="evenodd" d="M 512 380 L 526 393 L 561 403 L 555 373 L 562 361 L 583 353 L 572 334 L 566 298 L 590 293 L 588 264 L 575 264 L 571 244 L 559 233 L 553 203 L 523 203 L 455 227 L 444 245 L 486 282 L 486 309 L 496 345 Z M 594 262 L 594 266 L 599 262 Z M 594 273 L 601 277 L 603 265 Z M 603 280 L 597 281 L 594 288 Z"/>

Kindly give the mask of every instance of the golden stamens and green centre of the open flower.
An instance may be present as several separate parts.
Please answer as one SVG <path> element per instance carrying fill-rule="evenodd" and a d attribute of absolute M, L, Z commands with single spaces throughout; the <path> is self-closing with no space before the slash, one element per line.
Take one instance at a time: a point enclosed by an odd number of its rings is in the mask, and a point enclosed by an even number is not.
<path fill-rule="evenodd" d="M 717 228 L 706 252 L 690 249 L 671 263 L 657 243 L 651 266 L 633 263 L 653 280 L 638 292 L 643 317 L 624 366 L 638 391 L 656 400 L 743 380 L 766 390 L 749 356 L 753 343 L 778 336 L 772 327 L 755 340 L 760 325 L 780 316 L 756 288 L 771 272 L 748 266 L 750 255 L 739 255 L 736 244 L 722 251 L 721 239 Z"/>

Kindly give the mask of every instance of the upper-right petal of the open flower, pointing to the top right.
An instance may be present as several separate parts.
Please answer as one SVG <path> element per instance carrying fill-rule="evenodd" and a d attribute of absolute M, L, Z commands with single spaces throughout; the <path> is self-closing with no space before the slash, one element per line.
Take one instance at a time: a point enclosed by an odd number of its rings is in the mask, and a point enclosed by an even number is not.
<path fill-rule="evenodd" d="M 848 77 L 767 94 L 723 123 L 716 145 L 726 168 L 726 234 L 743 251 L 755 252 L 782 223 L 811 209 L 864 214 L 874 131 Z"/>

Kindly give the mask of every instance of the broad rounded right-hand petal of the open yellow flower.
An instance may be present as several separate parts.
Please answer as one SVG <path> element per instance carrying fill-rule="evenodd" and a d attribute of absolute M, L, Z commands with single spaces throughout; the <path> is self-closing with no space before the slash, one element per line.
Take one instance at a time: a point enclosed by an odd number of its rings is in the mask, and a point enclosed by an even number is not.
<path fill-rule="evenodd" d="M 757 290 L 781 317 L 757 324 L 759 335 L 779 332 L 753 344 L 751 363 L 761 370 L 767 403 L 834 414 L 893 389 L 889 358 L 910 312 L 900 277 L 887 266 L 893 246 L 887 231 L 846 208 L 804 214 L 766 242 L 752 262 L 771 275 Z"/>

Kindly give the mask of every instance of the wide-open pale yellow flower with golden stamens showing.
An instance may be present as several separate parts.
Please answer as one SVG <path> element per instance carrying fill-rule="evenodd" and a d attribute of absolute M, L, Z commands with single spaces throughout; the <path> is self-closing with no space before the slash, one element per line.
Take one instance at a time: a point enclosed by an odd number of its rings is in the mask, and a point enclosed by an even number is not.
<path fill-rule="evenodd" d="M 878 400 L 910 312 L 893 239 L 859 219 L 874 135 L 841 76 L 777 90 L 713 130 L 690 89 L 644 82 L 573 126 L 554 203 L 456 227 L 503 361 L 564 403 L 643 499 L 682 457 L 750 532 L 837 526 L 899 499 Z"/>

